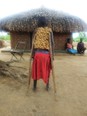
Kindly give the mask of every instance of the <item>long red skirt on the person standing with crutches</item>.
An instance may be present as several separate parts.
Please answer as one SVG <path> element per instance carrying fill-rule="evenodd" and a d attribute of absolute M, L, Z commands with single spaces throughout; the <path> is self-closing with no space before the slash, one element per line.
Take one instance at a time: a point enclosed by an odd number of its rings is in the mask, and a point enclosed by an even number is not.
<path fill-rule="evenodd" d="M 33 80 L 43 79 L 48 82 L 51 70 L 51 58 L 49 53 L 36 53 L 32 64 Z"/>

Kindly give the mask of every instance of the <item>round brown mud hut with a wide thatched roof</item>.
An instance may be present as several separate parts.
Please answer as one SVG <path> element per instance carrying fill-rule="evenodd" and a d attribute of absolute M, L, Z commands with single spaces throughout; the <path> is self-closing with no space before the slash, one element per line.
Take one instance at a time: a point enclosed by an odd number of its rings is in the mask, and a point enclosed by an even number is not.
<path fill-rule="evenodd" d="M 26 41 L 26 50 L 31 49 L 32 33 L 37 27 L 39 16 L 48 19 L 54 34 L 55 50 L 64 50 L 66 39 L 72 37 L 72 33 L 87 31 L 85 22 L 76 16 L 47 8 L 33 9 L 0 21 L 0 30 L 11 35 L 11 48 L 14 48 L 18 41 Z"/>

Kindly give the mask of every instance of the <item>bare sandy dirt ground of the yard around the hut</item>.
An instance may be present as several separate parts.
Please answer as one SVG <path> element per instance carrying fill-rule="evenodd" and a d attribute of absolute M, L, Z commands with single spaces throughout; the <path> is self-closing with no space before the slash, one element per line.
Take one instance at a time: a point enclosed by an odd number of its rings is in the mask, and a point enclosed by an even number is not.
<path fill-rule="evenodd" d="M 9 53 L 0 53 L 0 60 L 7 62 L 10 58 Z M 23 67 L 28 75 L 29 54 L 24 59 L 11 65 L 19 70 Z M 27 89 L 28 78 L 0 77 L 0 116 L 87 116 L 87 54 L 59 53 L 55 55 L 54 66 L 56 95 L 52 76 L 48 92 L 42 80 L 34 92 L 32 81 Z"/>

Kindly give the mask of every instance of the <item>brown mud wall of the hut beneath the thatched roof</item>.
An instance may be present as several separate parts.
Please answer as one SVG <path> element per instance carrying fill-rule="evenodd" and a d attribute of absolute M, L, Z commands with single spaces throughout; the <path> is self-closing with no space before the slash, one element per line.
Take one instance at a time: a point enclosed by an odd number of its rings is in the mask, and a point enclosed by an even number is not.
<path fill-rule="evenodd" d="M 54 32 L 54 49 L 55 50 L 64 50 L 66 39 L 71 37 L 71 33 L 57 33 Z M 32 33 L 22 33 L 22 32 L 11 32 L 11 48 L 15 48 L 18 41 L 26 42 L 26 50 L 31 49 L 32 45 Z"/>

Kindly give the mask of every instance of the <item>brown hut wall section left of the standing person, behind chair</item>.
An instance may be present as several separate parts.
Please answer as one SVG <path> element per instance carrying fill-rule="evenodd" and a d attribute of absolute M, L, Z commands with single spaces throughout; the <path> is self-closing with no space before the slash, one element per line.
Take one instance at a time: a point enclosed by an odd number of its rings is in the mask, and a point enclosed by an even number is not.
<path fill-rule="evenodd" d="M 22 33 L 22 32 L 10 32 L 11 35 L 11 48 L 15 48 L 19 41 L 26 42 L 26 50 L 31 48 L 31 33 Z M 30 39 L 31 38 L 31 39 Z"/>

